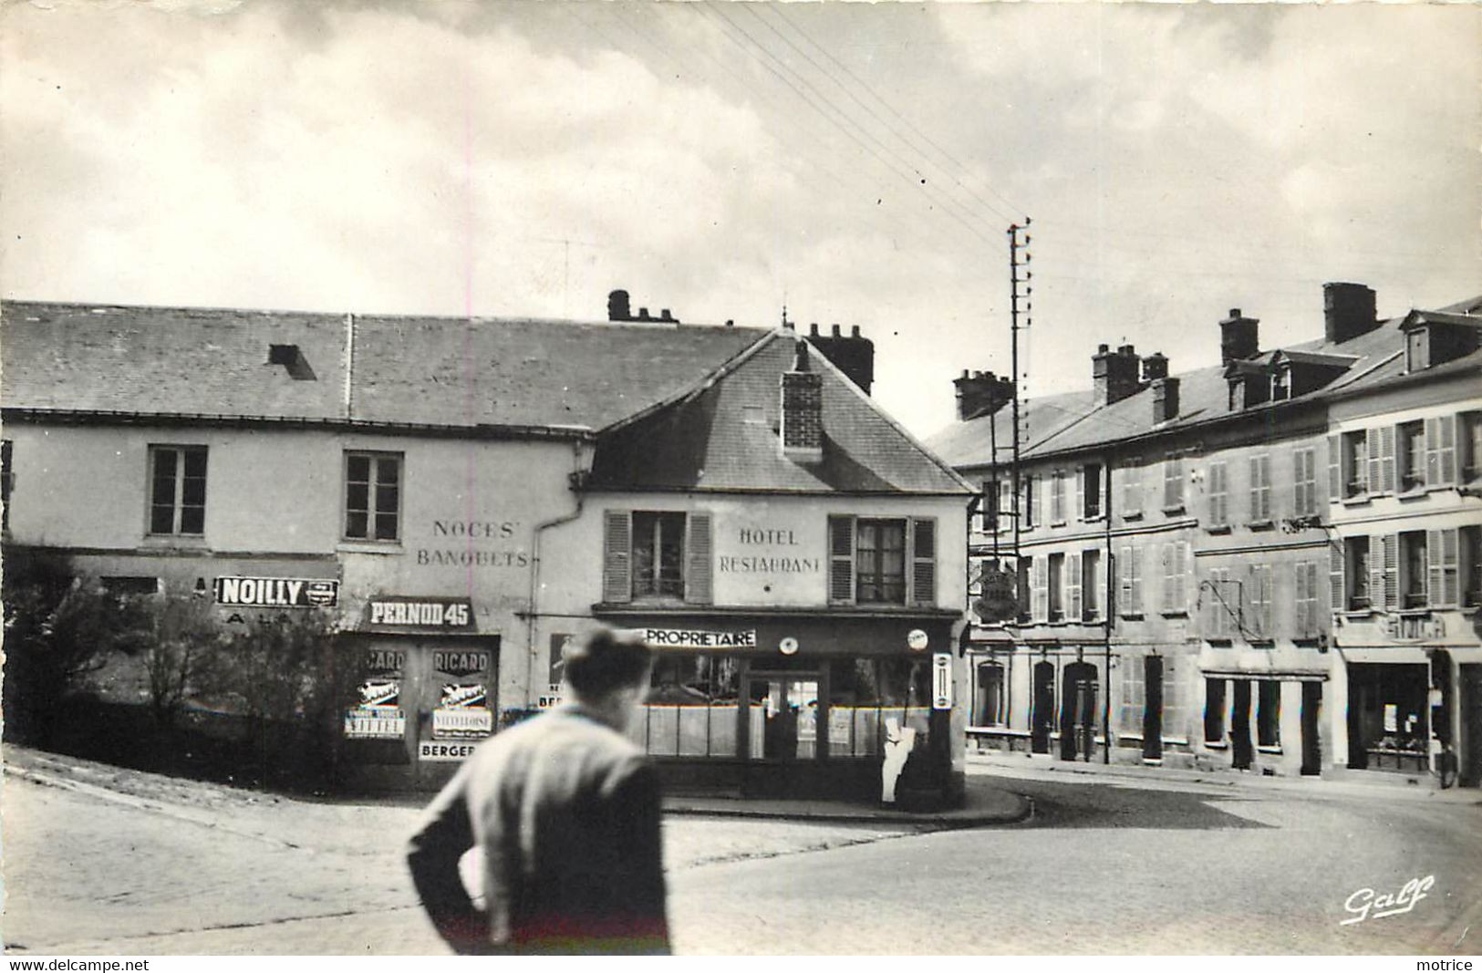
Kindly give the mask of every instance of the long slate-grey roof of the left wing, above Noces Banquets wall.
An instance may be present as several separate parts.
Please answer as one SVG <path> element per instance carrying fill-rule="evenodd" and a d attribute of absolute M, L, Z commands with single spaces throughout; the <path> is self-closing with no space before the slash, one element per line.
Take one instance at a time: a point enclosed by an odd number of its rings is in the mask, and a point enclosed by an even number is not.
<path fill-rule="evenodd" d="M 766 333 L 7 301 L 0 404 L 597 429 L 688 388 Z M 296 345 L 314 378 L 268 364 L 270 345 Z"/>

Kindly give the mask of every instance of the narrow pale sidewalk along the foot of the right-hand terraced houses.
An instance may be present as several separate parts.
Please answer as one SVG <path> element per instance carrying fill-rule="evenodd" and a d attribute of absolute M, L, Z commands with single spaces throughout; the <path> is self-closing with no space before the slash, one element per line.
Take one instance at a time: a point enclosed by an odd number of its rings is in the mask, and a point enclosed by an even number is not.
<path fill-rule="evenodd" d="M 1433 804 L 1482 806 L 1482 789 L 1448 788 L 1442 791 L 1435 782 L 1409 783 L 1400 775 L 1353 772 L 1344 776 L 1320 778 L 1269 778 L 1243 770 L 1196 770 L 1183 767 L 1157 767 L 1146 764 L 1103 764 L 1058 760 L 1051 754 L 968 754 L 968 773 L 977 769 L 980 779 L 987 775 L 1014 776 L 1015 773 L 1064 775 L 1069 780 L 1092 778 L 1120 778 L 1143 782 L 1178 782 L 1209 788 L 1269 789 L 1303 792 L 1313 797 L 1369 797 L 1377 800 L 1418 800 Z M 969 778 L 971 779 L 971 778 Z"/>

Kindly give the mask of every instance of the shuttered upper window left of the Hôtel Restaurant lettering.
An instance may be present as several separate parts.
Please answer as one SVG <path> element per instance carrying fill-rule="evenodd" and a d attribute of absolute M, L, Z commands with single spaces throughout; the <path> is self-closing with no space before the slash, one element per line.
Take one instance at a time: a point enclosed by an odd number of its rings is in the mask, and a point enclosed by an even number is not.
<path fill-rule="evenodd" d="M 602 600 L 711 600 L 710 514 L 609 509 L 603 514 Z"/>

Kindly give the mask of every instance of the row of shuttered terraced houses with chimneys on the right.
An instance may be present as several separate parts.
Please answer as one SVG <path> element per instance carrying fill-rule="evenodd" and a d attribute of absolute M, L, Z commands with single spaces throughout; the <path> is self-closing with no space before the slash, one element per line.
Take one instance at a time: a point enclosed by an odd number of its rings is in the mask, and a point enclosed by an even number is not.
<path fill-rule="evenodd" d="M 1291 348 L 1239 310 L 1214 367 L 1101 345 L 1091 388 L 1018 404 L 1017 467 L 1012 385 L 965 372 L 928 444 L 983 496 L 974 745 L 1476 786 L 1479 311 L 1334 283 Z"/>

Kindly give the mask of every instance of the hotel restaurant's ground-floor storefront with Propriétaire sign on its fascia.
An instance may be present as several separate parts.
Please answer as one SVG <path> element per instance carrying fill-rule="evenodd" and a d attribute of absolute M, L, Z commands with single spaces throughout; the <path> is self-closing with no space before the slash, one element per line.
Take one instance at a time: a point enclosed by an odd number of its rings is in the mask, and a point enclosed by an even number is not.
<path fill-rule="evenodd" d="M 634 739 L 671 788 L 877 800 L 888 743 L 950 763 L 956 613 L 658 615 L 652 690 Z M 959 782 L 960 786 L 960 782 Z"/>

